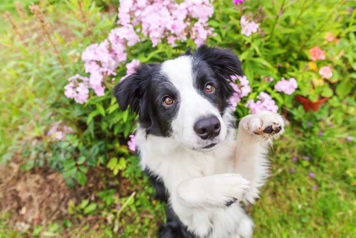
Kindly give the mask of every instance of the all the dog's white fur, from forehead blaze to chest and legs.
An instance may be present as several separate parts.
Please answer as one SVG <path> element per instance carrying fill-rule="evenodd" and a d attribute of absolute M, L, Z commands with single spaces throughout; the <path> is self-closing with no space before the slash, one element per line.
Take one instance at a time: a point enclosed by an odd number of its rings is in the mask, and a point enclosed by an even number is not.
<path fill-rule="evenodd" d="M 169 202 L 188 230 L 199 237 L 251 237 L 253 222 L 239 205 L 253 203 L 268 177 L 266 153 L 272 136 L 255 135 L 273 123 L 283 127 L 278 114 L 259 112 L 244 117 L 237 137 L 230 110 L 220 112 L 199 95 L 192 85 L 191 59 L 188 56 L 163 63 L 166 74 L 180 92 L 180 109 L 172 122 L 172 136 L 146 135 L 138 127 L 136 140 L 142 168 L 162 178 Z M 194 130 L 197 118 L 215 115 L 221 123 L 219 142 L 209 150 L 200 150 L 213 140 L 202 140 Z M 279 134 L 283 132 L 283 129 Z M 226 206 L 231 199 L 236 203 Z"/>

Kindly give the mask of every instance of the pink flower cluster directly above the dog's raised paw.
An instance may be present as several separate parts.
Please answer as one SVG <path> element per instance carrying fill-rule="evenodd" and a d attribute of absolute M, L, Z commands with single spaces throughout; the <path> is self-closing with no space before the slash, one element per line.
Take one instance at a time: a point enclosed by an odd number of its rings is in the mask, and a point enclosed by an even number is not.
<path fill-rule="evenodd" d="M 263 110 L 268 110 L 273 113 L 278 112 L 278 106 L 276 105 L 276 102 L 268 93 L 260 92 L 257 96 L 257 99 L 259 100 L 256 102 L 253 99 L 248 100 L 245 105 L 246 108 L 250 109 L 251 114 L 255 114 Z"/>

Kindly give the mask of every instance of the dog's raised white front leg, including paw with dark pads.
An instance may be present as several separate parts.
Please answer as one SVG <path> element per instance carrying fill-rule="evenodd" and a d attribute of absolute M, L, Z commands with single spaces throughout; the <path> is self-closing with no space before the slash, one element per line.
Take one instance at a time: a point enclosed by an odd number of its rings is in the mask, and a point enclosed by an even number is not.
<path fill-rule="evenodd" d="M 239 123 L 236 138 L 235 171 L 251 181 L 251 190 L 244 201 L 254 203 L 258 188 L 269 176 L 269 162 L 266 154 L 273 139 L 284 131 L 284 121 L 277 113 L 261 111 L 245 116 Z"/>

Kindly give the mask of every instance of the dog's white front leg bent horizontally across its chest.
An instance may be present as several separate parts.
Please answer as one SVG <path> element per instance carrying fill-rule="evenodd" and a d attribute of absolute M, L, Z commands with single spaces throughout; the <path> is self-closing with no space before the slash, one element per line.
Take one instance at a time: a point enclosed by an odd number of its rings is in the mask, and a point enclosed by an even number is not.
<path fill-rule="evenodd" d="M 239 174 L 215 174 L 181 182 L 171 190 L 170 205 L 180 220 L 199 237 L 212 228 L 210 208 L 227 208 L 243 200 L 250 182 Z"/>

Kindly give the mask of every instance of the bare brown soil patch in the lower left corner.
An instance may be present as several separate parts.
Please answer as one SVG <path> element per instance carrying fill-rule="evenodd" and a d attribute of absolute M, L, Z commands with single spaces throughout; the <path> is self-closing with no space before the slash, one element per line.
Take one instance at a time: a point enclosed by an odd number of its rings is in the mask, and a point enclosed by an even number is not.
<path fill-rule="evenodd" d="M 66 186 L 62 175 L 49 168 L 21 170 L 13 160 L 0 164 L 0 217 L 10 215 L 7 225 L 17 231 L 32 230 L 35 225 L 47 227 L 51 222 L 69 218 L 68 202 L 79 204 L 82 199 L 95 199 L 94 192 L 105 188 L 102 174 L 111 171 L 93 168 L 87 173 L 85 186 Z"/>

